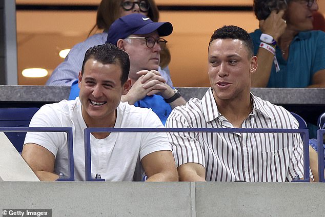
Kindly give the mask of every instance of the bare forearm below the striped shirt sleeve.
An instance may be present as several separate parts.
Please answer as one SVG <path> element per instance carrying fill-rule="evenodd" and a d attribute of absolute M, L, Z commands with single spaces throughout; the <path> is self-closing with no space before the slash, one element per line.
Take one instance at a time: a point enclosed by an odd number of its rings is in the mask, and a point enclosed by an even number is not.
<path fill-rule="evenodd" d="M 187 163 L 177 168 L 181 182 L 205 182 L 206 169 L 201 164 Z"/>

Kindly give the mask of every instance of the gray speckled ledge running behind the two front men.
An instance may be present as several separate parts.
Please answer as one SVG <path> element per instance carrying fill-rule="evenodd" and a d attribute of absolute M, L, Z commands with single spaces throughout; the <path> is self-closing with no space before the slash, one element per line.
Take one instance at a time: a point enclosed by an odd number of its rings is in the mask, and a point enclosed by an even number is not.
<path fill-rule="evenodd" d="M 179 87 L 186 100 L 201 98 L 207 87 Z M 252 88 L 253 94 L 274 104 L 325 105 L 325 88 Z M 58 102 L 69 97 L 67 86 L 0 85 L 0 102 Z"/>

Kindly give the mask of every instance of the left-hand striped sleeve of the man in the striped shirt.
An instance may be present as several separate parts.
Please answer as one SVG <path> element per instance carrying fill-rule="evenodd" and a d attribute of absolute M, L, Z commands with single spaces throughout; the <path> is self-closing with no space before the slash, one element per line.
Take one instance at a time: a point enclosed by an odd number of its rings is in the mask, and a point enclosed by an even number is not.
<path fill-rule="evenodd" d="M 167 119 L 168 128 L 192 128 L 186 117 L 177 112 L 177 108 L 172 111 Z M 186 163 L 198 163 L 205 165 L 204 150 L 200 144 L 197 133 L 193 132 L 169 132 L 168 139 L 173 148 L 176 166 Z"/>

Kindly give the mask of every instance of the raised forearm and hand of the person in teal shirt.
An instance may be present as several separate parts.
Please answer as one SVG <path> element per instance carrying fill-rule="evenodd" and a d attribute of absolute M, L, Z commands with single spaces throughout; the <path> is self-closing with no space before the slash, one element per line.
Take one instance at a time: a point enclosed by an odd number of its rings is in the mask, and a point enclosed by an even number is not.
<path fill-rule="evenodd" d="M 271 35 L 275 41 L 283 34 L 287 25 L 282 19 L 284 11 L 272 11 L 268 18 L 259 22 L 262 33 Z M 252 74 L 251 87 L 266 87 L 271 75 L 274 55 L 264 48 L 257 52 L 257 70 Z"/>

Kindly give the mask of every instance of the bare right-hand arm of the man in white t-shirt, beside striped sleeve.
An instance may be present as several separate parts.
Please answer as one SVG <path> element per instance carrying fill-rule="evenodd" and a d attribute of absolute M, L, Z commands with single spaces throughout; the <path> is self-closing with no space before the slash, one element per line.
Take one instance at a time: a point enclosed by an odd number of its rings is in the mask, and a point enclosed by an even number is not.
<path fill-rule="evenodd" d="M 146 182 L 177 182 L 178 174 L 171 151 L 155 151 L 147 154 L 141 164 L 148 176 Z"/>

